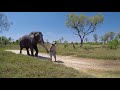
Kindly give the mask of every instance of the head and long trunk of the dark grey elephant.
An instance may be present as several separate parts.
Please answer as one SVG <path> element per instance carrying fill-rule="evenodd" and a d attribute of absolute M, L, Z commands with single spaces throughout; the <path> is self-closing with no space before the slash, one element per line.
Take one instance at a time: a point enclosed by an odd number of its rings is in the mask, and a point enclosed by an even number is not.
<path fill-rule="evenodd" d="M 47 51 L 47 53 L 49 52 L 48 49 L 47 49 L 47 47 L 45 46 L 45 43 L 44 43 L 44 40 L 43 40 L 43 34 L 41 32 L 31 32 L 29 34 L 29 36 L 31 38 L 33 38 L 36 43 L 40 43 L 45 48 L 45 50 Z"/>

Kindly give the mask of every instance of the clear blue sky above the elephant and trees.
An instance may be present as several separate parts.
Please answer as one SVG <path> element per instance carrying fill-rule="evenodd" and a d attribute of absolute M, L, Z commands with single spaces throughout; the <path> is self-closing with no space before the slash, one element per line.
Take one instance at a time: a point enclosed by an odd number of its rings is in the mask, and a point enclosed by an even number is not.
<path fill-rule="evenodd" d="M 79 36 L 73 34 L 73 31 L 66 27 L 66 16 L 74 13 L 77 15 L 94 16 L 99 12 L 3 12 L 7 15 L 9 21 L 13 22 L 9 31 L 0 33 L 0 36 L 11 37 L 14 40 L 32 31 L 43 33 L 44 41 L 52 42 L 61 37 L 68 42 L 80 42 Z M 94 33 L 87 36 L 88 41 L 93 40 L 93 34 L 98 36 L 106 32 L 120 32 L 120 12 L 100 12 L 104 15 L 104 22 Z"/>

